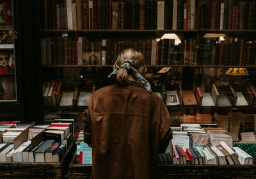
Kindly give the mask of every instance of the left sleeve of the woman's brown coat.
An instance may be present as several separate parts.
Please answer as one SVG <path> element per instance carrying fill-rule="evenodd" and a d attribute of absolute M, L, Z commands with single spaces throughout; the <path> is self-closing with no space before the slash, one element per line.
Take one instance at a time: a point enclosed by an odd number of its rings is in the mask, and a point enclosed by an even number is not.
<path fill-rule="evenodd" d="M 88 109 L 84 110 L 83 121 L 84 121 L 84 143 L 92 144 L 92 129 L 90 127 L 90 113 Z"/>

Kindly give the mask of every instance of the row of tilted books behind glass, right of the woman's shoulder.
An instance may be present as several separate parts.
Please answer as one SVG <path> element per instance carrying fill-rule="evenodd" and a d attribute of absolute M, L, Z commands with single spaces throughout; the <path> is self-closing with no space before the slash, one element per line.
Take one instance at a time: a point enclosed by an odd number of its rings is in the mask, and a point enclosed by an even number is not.
<path fill-rule="evenodd" d="M 217 86 L 212 84 L 211 90 L 205 90 L 204 86 L 196 87 L 193 90 L 183 90 L 181 85 L 178 90 L 166 91 L 156 94 L 166 102 L 166 105 L 199 105 L 199 106 L 248 106 L 255 104 L 256 88 L 253 84 L 248 84 L 244 88 L 234 88 L 228 86 Z"/>

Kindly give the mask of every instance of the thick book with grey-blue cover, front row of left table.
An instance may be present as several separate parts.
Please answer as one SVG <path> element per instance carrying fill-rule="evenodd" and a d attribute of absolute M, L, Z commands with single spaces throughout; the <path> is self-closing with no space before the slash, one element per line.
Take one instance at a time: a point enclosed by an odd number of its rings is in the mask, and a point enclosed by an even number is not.
<path fill-rule="evenodd" d="M 35 151 L 35 162 L 45 162 L 45 152 L 51 147 L 54 140 L 46 140 L 44 143 Z"/>

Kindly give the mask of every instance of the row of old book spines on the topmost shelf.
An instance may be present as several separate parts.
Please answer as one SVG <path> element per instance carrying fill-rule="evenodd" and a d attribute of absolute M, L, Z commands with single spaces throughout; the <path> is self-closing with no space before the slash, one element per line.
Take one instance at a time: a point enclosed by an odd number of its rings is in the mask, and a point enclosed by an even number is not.
<path fill-rule="evenodd" d="M 255 2 L 45 0 L 47 29 L 255 29 Z"/>

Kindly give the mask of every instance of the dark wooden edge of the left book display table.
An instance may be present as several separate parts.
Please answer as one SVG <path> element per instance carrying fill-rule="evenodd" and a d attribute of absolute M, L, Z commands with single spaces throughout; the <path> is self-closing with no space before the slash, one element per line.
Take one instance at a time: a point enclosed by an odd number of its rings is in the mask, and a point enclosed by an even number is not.
<path fill-rule="evenodd" d="M 73 141 L 59 163 L 0 162 L 0 178 L 63 178 L 75 150 Z"/>

